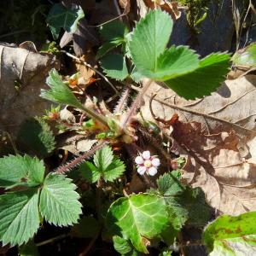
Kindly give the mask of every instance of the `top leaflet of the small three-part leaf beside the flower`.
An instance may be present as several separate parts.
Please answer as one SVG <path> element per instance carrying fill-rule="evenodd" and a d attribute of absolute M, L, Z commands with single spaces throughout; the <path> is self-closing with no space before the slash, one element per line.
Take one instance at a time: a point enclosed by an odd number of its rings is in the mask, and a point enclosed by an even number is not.
<path fill-rule="evenodd" d="M 108 166 L 113 161 L 113 152 L 110 147 L 104 147 L 96 151 L 93 157 L 96 167 L 101 171 L 107 170 Z"/>

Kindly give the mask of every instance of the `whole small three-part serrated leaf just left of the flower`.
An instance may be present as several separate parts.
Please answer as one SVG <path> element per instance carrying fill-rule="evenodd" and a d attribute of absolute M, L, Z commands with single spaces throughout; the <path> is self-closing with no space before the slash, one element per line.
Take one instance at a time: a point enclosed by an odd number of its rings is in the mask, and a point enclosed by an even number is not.
<path fill-rule="evenodd" d="M 96 151 L 94 155 L 95 166 L 89 161 L 85 161 L 79 172 L 90 183 L 96 183 L 101 177 L 107 182 L 112 182 L 125 172 L 123 161 L 113 155 L 110 147 L 104 147 Z"/>

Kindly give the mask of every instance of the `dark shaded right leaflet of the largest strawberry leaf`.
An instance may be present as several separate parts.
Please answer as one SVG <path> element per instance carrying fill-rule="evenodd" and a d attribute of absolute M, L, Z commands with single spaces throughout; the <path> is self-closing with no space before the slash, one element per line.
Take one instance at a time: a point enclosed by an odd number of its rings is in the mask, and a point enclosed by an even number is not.
<path fill-rule="evenodd" d="M 214 53 L 202 59 L 194 72 L 167 80 L 165 84 L 187 100 L 208 96 L 224 81 L 229 67 L 229 54 Z"/>

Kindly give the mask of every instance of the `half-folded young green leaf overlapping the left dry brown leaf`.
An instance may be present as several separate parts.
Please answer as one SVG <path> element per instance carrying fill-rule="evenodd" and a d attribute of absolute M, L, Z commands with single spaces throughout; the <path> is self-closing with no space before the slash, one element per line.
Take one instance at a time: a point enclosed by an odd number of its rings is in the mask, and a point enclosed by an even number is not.
<path fill-rule="evenodd" d="M 73 92 L 68 89 L 67 84 L 64 84 L 59 73 L 53 68 L 49 72 L 49 77 L 46 79 L 46 84 L 49 85 L 49 90 L 41 90 L 41 97 L 51 102 L 70 105 L 75 108 L 83 109 L 82 104 L 73 95 Z"/>

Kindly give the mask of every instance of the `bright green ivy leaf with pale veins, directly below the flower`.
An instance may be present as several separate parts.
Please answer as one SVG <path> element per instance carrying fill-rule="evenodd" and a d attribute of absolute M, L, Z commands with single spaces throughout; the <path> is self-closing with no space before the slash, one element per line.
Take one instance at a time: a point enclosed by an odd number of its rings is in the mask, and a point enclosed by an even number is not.
<path fill-rule="evenodd" d="M 130 239 L 141 253 L 148 253 L 143 241 L 160 236 L 168 224 L 166 202 L 157 195 L 130 195 L 114 201 L 106 218 L 113 235 Z"/>

